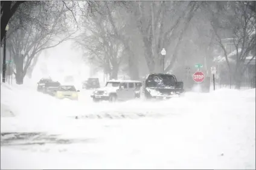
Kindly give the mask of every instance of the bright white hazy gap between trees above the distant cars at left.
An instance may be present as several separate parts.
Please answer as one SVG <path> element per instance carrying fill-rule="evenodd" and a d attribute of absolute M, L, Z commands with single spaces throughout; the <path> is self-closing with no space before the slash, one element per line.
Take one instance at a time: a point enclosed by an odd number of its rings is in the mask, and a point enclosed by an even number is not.
<path fill-rule="evenodd" d="M 39 56 L 34 68 L 32 79 L 38 80 L 42 76 L 51 76 L 62 81 L 65 76 L 75 76 L 76 79 L 86 79 L 89 68 L 82 59 L 82 50 L 74 49 L 73 41 L 65 41 L 59 46 L 44 50 Z M 43 73 L 47 70 L 48 73 Z"/>

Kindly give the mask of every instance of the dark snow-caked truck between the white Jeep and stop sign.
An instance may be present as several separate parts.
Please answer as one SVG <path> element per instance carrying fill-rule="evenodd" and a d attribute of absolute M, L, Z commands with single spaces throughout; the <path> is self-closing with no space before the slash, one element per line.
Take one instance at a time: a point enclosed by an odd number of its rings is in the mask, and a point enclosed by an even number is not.
<path fill-rule="evenodd" d="M 142 99 L 170 99 L 184 93 L 183 81 L 178 82 L 173 74 L 148 74 L 142 82 Z"/>

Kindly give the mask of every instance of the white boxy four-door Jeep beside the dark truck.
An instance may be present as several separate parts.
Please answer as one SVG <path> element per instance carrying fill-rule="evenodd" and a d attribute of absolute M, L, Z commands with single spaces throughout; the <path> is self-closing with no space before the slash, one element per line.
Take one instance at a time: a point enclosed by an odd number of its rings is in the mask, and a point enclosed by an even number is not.
<path fill-rule="evenodd" d="M 142 83 L 133 80 L 109 80 L 105 87 L 95 90 L 91 97 L 94 102 L 109 100 L 130 100 L 139 97 L 139 88 Z"/>

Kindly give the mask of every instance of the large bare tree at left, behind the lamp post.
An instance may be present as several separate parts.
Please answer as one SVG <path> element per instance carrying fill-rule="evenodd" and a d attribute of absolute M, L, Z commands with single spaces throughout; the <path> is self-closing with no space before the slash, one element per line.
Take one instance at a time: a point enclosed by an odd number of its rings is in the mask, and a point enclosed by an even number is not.
<path fill-rule="evenodd" d="M 63 41 L 71 39 L 75 34 L 75 31 L 69 33 L 63 26 L 66 22 L 64 4 L 50 2 L 45 5 L 48 10 L 51 10 L 50 14 L 42 6 L 31 9 L 27 11 L 28 13 L 24 13 L 21 8 L 16 13 L 18 14 L 17 18 L 11 22 L 13 25 L 19 25 L 18 29 L 12 32 L 7 39 L 7 44 L 14 55 L 14 74 L 18 84 L 23 83 L 28 68 L 31 64 L 36 63 L 37 60 L 34 58 L 37 58 L 42 50 L 55 47 Z M 18 24 L 17 21 L 19 21 Z M 62 35 L 62 37 L 58 37 L 58 35 Z M 65 36 L 63 37 L 63 35 Z"/>

